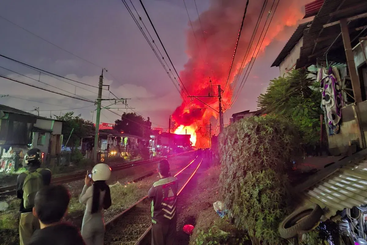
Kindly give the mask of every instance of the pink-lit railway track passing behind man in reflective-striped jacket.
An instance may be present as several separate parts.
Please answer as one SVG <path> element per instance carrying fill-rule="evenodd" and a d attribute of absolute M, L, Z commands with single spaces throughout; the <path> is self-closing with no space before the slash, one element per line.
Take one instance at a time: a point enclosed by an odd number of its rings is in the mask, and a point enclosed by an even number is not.
<path fill-rule="evenodd" d="M 195 175 L 202 161 L 203 159 L 197 156 L 175 174 L 179 180 L 178 195 Z M 150 242 L 149 234 L 152 223 L 150 202 L 150 199 L 145 196 L 108 221 L 105 225 L 105 243 L 110 245 L 142 245 Z"/>

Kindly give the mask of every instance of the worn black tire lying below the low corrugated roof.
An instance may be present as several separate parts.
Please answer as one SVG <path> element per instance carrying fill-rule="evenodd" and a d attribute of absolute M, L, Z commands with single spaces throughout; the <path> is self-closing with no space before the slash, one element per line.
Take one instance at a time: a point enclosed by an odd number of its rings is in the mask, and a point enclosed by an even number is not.
<path fill-rule="evenodd" d="M 314 227 L 323 215 L 319 205 L 313 204 L 296 209 L 279 224 L 279 234 L 288 239 Z"/>

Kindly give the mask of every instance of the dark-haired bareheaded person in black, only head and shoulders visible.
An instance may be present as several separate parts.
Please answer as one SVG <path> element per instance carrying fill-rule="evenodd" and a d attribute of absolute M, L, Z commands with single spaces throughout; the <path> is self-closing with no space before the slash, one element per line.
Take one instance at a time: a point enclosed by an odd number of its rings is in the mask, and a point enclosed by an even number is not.
<path fill-rule="evenodd" d="M 85 245 L 78 229 L 62 218 L 68 213 L 70 194 L 62 185 L 41 189 L 34 198 L 33 215 L 41 230 L 32 235 L 28 245 Z"/>

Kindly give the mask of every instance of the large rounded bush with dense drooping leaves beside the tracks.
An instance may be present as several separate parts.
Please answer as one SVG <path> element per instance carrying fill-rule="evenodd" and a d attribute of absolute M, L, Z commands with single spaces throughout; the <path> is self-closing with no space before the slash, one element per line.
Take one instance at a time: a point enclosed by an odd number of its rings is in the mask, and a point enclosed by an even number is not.
<path fill-rule="evenodd" d="M 219 137 L 225 205 L 254 245 L 282 244 L 277 227 L 286 213 L 286 172 L 298 139 L 297 130 L 273 116 L 242 119 Z"/>

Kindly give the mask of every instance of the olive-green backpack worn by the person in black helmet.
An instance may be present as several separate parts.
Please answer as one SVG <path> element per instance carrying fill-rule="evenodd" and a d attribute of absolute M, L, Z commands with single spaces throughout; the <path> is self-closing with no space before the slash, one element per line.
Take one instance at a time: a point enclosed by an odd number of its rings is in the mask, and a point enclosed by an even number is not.
<path fill-rule="evenodd" d="M 29 172 L 28 170 L 24 173 L 27 174 L 23 184 L 23 206 L 25 209 L 33 208 L 34 197 L 37 191 L 43 187 L 43 178 L 41 175 L 41 168 L 34 172 Z"/>

